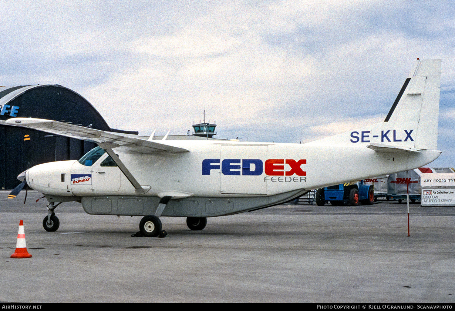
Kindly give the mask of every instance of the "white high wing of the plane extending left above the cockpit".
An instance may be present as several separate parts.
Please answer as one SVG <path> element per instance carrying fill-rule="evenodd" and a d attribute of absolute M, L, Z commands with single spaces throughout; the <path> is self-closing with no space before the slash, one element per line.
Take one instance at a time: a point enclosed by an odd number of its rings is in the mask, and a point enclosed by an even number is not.
<path fill-rule="evenodd" d="M 6 120 L 5 123 L 7 125 L 27 127 L 33 130 L 40 130 L 51 134 L 91 141 L 100 145 L 103 149 L 121 148 L 124 152 L 138 153 L 181 153 L 189 151 L 184 148 L 167 145 L 163 141 L 158 142 L 144 140 L 132 135 L 122 135 L 120 133 L 95 130 L 88 127 L 73 125 L 60 121 L 35 118 L 11 118 Z"/>

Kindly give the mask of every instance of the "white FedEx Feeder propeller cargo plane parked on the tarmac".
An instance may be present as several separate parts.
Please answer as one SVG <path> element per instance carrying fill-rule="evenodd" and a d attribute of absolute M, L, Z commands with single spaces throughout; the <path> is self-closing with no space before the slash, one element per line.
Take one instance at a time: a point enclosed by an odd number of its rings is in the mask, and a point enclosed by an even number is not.
<path fill-rule="evenodd" d="M 47 231 L 58 229 L 54 209 L 67 201 L 81 202 L 89 214 L 144 216 L 144 236 L 160 234 L 160 216 L 187 217 L 190 229 L 202 230 L 207 217 L 274 206 L 311 189 L 430 163 L 440 155 L 439 95 L 440 60 L 417 60 L 384 122 L 306 144 L 144 140 L 58 121 L 12 118 L 6 123 L 98 147 L 79 161 L 31 167 L 18 176 L 22 183 L 10 196 L 25 183 L 42 192 L 50 202 L 43 220 Z"/>

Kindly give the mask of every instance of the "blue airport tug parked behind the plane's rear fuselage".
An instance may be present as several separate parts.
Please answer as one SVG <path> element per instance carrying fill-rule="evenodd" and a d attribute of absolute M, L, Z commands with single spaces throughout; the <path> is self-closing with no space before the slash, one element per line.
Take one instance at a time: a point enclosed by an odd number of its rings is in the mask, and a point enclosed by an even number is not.
<path fill-rule="evenodd" d="M 359 203 L 371 205 L 374 203 L 374 187 L 358 181 L 319 188 L 315 200 L 318 206 L 324 206 L 328 202 L 334 206 L 342 206 L 344 203 L 351 206 L 358 206 Z"/>

